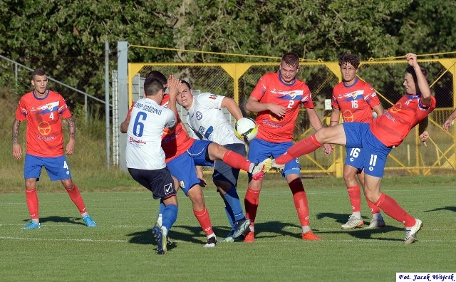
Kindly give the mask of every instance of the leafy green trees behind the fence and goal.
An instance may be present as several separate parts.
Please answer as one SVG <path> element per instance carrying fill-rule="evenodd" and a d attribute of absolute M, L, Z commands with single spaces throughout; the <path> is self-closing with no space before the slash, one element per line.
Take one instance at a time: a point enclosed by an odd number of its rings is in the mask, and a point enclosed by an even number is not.
<path fill-rule="evenodd" d="M 105 41 L 113 49 L 111 68 L 117 41 L 278 58 L 294 51 L 323 61 L 336 61 L 342 51 L 367 60 L 403 56 L 406 50 L 456 50 L 455 1 L 4 0 L 0 13 L 2 56 L 45 68 L 49 76 L 99 98 L 104 96 Z M 132 49 L 129 60 L 264 61 L 145 48 Z M 0 83 L 10 85 L 11 64 L 1 62 L 0 71 Z M 28 82 L 28 73 L 23 75 Z M 67 99 L 78 103 L 82 98 L 75 93 Z"/>

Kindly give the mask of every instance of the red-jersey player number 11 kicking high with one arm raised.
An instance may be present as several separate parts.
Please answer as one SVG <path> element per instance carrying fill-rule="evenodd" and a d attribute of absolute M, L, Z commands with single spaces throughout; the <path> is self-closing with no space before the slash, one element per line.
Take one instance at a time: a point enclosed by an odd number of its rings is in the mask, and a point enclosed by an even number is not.
<path fill-rule="evenodd" d="M 395 200 L 380 192 L 386 158 L 393 149 L 403 142 L 410 130 L 418 125 L 420 140 L 426 145 L 427 115 L 435 109 L 435 98 L 427 83 L 427 71 L 418 64 L 413 53 L 405 55 L 408 68 L 405 69 L 404 88 L 406 95 L 393 107 L 378 116 L 371 124 L 345 122 L 341 125 L 325 127 L 311 137 L 307 137 L 291 147 L 284 155 L 276 158 L 277 164 L 285 164 L 301 155 L 313 152 L 322 143 L 363 148 L 364 194 L 366 198 L 382 209 L 385 214 L 400 221 L 405 226 L 405 244 L 416 240 L 422 222 L 410 216 Z"/>

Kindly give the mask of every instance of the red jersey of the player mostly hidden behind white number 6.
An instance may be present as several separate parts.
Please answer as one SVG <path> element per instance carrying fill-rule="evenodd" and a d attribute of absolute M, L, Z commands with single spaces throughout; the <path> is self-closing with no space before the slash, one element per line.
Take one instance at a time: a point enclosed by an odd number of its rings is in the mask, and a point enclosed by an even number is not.
<path fill-rule="evenodd" d="M 162 100 L 162 106 L 167 107 L 168 102 L 170 101 L 170 96 L 165 95 Z M 128 110 L 127 117 L 125 120 L 130 119 L 131 110 L 133 109 L 133 103 Z M 180 122 L 180 116 L 177 115 L 177 124 L 172 128 L 165 128 L 162 135 L 162 149 L 165 152 L 165 162 L 170 162 L 177 156 L 180 156 L 187 152 L 187 150 L 192 147 L 195 139 L 191 138 L 187 132 L 182 127 L 182 122 Z"/>

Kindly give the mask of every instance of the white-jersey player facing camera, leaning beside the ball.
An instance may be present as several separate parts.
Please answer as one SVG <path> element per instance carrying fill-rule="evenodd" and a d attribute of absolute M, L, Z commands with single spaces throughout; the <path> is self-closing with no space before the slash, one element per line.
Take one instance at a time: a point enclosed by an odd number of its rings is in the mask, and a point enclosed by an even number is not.
<path fill-rule="evenodd" d="M 176 101 L 187 113 L 187 122 L 195 135 L 201 140 L 209 140 L 226 147 L 228 150 L 245 155 L 245 144 L 234 135 L 233 125 L 227 120 L 222 108 L 226 108 L 232 116 L 239 120 L 242 112 L 232 98 L 211 93 L 193 96 L 193 89 L 185 80 L 181 80 Z M 237 178 L 239 169 L 234 169 L 222 160 L 214 163 L 212 180 L 225 203 L 229 224 L 232 230 L 223 241 L 238 241 L 250 225 L 244 216 L 241 202 L 237 194 Z M 242 240 L 241 240 L 242 241 Z"/>

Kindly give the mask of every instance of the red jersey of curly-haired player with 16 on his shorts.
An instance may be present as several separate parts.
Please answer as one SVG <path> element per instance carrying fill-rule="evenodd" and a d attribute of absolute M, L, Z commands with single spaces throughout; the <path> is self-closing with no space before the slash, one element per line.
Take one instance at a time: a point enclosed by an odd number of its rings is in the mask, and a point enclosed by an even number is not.
<path fill-rule="evenodd" d="M 346 86 L 341 82 L 333 88 L 332 105 L 341 111 L 343 122 L 371 123 L 372 108 L 379 104 L 373 87 L 358 78 L 352 85 Z"/>

